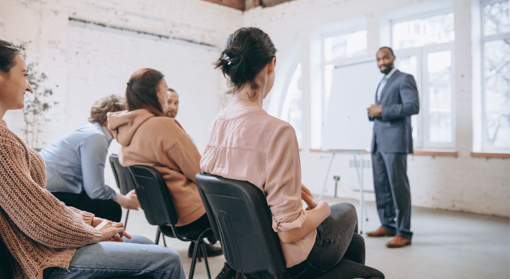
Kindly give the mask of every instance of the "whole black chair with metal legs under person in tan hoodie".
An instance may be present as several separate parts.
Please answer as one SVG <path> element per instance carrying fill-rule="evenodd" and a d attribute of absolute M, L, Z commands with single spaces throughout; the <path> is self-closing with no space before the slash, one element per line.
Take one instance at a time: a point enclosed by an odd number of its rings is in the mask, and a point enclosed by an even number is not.
<path fill-rule="evenodd" d="M 191 260 L 189 279 L 193 279 L 195 264 L 198 256 L 198 249 L 201 249 L 204 262 L 206 263 L 207 275 L 211 279 L 209 263 L 207 262 L 206 245 L 203 238 L 213 236 L 211 228 L 205 230 L 182 231 L 177 224 L 177 213 L 172 202 L 172 196 L 166 186 L 165 180 L 155 168 L 149 166 L 128 167 L 135 181 L 136 194 L 142 207 L 145 218 L 151 225 L 158 226 L 156 233 L 156 244 L 159 243 L 161 234 L 168 237 L 178 238 L 182 241 L 194 241 L 195 248 Z M 170 226 L 167 226 L 169 224 Z M 164 241 L 163 237 L 163 241 Z M 166 246 L 166 243 L 165 243 Z"/>

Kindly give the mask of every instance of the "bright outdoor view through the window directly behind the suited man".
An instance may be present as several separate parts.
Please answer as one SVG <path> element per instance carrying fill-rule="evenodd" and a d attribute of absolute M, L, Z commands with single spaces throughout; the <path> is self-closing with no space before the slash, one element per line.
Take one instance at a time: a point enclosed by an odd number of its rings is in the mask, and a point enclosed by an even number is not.
<path fill-rule="evenodd" d="M 411 117 L 415 148 L 455 147 L 453 12 L 391 22 L 395 67 L 415 77 L 420 113 Z"/>

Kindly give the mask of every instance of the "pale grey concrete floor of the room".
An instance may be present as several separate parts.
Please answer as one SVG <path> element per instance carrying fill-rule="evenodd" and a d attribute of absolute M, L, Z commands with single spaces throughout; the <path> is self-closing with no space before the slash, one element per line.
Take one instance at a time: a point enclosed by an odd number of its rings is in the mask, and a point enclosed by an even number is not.
<path fill-rule="evenodd" d="M 356 200 L 328 197 L 325 200 L 329 204 L 350 202 L 359 211 Z M 380 225 L 374 202 L 367 202 L 367 211 L 369 221 L 364 223 L 364 233 Z M 122 220 L 125 210 L 123 214 Z M 385 246 L 391 237 L 372 238 L 363 234 L 366 264 L 379 269 L 388 279 L 510 278 L 508 218 L 413 207 L 411 228 L 414 231 L 413 244 L 398 249 Z M 141 209 L 130 210 L 126 230 L 151 240 L 156 236 L 156 226 L 147 223 Z M 167 246 L 181 255 L 188 276 L 191 265 L 189 242 L 165 239 Z M 163 245 L 162 240 L 160 244 Z M 223 256 L 209 258 L 213 279 L 224 262 Z M 203 262 L 197 263 L 194 278 L 208 278 Z"/>

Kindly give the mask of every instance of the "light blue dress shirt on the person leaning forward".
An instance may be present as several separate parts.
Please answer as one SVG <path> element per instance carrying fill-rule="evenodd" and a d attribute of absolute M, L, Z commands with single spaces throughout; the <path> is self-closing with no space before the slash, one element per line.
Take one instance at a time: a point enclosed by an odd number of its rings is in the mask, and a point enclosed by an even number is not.
<path fill-rule="evenodd" d="M 97 122 L 88 123 L 46 146 L 39 154 L 46 163 L 46 190 L 87 193 L 93 200 L 113 200 L 105 184 L 105 162 L 112 135 Z"/>

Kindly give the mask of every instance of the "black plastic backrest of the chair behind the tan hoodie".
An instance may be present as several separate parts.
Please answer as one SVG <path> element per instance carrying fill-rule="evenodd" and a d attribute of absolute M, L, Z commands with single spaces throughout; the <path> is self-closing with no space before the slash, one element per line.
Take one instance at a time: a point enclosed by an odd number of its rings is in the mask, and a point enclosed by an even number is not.
<path fill-rule="evenodd" d="M 127 168 L 135 180 L 136 195 L 149 224 L 157 226 L 177 224 L 172 196 L 159 171 L 142 165 Z"/>

